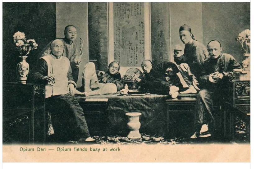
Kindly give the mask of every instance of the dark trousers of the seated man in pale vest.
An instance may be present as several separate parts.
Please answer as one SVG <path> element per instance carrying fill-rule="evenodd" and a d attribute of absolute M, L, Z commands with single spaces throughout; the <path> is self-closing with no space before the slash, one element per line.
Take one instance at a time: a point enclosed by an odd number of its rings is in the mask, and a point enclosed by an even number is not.
<path fill-rule="evenodd" d="M 51 112 L 56 135 L 63 139 L 90 137 L 83 109 L 70 93 L 47 98 L 46 108 Z"/>

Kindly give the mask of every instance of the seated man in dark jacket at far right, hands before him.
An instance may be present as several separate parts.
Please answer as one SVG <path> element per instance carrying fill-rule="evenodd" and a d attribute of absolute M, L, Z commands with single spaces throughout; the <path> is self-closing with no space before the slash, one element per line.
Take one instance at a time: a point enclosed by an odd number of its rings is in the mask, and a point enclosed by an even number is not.
<path fill-rule="evenodd" d="M 199 78 L 199 83 L 204 89 L 199 91 L 195 104 L 195 133 L 190 138 L 209 137 L 211 133 L 208 126 L 215 126 L 215 120 L 212 113 L 212 106 L 216 101 L 220 101 L 227 87 L 228 76 L 234 69 L 240 69 L 241 66 L 235 58 L 227 53 L 222 53 L 221 43 L 218 40 L 212 40 L 208 43 L 208 52 L 210 57 L 203 62 L 206 71 L 205 75 Z"/>

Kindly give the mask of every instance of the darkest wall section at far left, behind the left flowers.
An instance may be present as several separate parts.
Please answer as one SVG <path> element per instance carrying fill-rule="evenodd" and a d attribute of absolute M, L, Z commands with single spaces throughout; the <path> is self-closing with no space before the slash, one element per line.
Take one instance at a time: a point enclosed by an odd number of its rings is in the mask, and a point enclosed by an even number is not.
<path fill-rule="evenodd" d="M 38 43 L 38 48 L 26 59 L 31 70 L 35 66 L 38 53 L 56 37 L 56 5 L 42 2 L 4 2 L 2 4 L 3 81 L 15 81 L 19 52 L 13 42 L 14 33 L 24 32 L 27 39 L 35 39 Z"/>

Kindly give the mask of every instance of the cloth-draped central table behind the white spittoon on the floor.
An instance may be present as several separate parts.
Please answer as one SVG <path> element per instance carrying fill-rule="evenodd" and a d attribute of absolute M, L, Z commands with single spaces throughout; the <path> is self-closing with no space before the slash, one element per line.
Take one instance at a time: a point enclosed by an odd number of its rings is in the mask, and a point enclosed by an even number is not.
<path fill-rule="evenodd" d="M 83 105 L 88 98 L 108 98 L 106 108 L 106 121 L 107 131 L 117 135 L 127 134 L 127 121 L 128 117 L 125 115 L 127 112 L 140 112 L 142 115 L 139 117 L 141 127 L 139 131 L 146 134 L 164 135 L 166 132 L 166 99 L 168 95 L 145 95 L 145 94 L 131 94 L 131 95 L 98 95 L 81 97 L 79 99 L 80 105 Z M 82 106 L 83 108 L 83 106 Z M 84 110 L 86 115 L 86 110 Z M 48 119 L 49 120 L 49 119 Z M 97 121 L 97 118 L 94 118 Z M 50 124 L 50 123 L 49 123 Z M 49 130 L 50 129 L 50 130 Z M 53 128 L 48 125 L 48 135 L 53 134 Z"/>

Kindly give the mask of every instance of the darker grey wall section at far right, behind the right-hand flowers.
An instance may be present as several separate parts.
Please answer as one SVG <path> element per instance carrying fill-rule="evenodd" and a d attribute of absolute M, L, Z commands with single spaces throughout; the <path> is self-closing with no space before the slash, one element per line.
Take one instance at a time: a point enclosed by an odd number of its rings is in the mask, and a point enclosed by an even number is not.
<path fill-rule="evenodd" d="M 242 62 L 244 50 L 235 38 L 245 29 L 250 29 L 249 2 L 203 2 L 203 43 L 218 39 L 223 46 L 223 52 L 229 53 Z"/>

